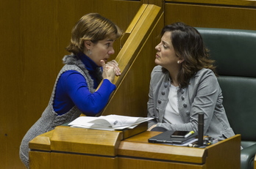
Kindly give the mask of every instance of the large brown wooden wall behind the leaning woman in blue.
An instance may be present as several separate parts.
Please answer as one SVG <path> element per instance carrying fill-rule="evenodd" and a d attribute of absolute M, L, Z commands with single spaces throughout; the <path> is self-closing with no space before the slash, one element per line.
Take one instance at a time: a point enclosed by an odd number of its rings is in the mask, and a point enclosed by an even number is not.
<path fill-rule="evenodd" d="M 125 30 L 140 7 L 140 1 L 0 1 L 1 168 L 24 168 L 18 157 L 21 139 L 49 102 L 77 20 L 99 12 Z"/>

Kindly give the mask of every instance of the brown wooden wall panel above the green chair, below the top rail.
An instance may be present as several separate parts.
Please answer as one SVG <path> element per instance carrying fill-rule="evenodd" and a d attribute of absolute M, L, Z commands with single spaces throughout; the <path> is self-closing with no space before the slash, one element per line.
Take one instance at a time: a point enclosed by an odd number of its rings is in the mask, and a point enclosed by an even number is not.
<path fill-rule="evenodd" d="M 256 30 L 256 8 L 166 3 L 165 23 L 177 21 L 198 27 Z"/>

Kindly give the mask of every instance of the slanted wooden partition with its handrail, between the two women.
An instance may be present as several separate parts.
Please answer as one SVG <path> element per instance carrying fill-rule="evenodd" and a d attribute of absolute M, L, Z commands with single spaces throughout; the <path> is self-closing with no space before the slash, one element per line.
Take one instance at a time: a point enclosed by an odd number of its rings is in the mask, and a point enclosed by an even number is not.
<path fill-rule="evenodd" d="M 143 4 L 121 39 L 116 57 L 122 75 L 103 115 L 146 116 L 149 80 L 155 59 L 157 35 L 163 28 L 163 10 L 154 4 Z M 124 45 L 123 45 L 124 44 Z"/>

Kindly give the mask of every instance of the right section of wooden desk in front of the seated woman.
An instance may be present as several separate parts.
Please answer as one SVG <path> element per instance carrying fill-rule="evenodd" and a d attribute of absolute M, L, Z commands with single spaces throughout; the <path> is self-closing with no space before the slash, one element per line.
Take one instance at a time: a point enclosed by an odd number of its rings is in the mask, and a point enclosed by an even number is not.
<path fill-rule="evenodd" d="M 160 168 L 240 168 L 241 135 L 222 140 L 205 149 L 186 146 L 169 146 L 148 143 L 148 138 L 160 132 L 143 132 L 121 141 L 118 149 L 118 165 L 149 168 L 159 164 Z M 149 162 L 150 161 L 150 162 Z M 153 163 L 153 164 L 150 164 Z"/>

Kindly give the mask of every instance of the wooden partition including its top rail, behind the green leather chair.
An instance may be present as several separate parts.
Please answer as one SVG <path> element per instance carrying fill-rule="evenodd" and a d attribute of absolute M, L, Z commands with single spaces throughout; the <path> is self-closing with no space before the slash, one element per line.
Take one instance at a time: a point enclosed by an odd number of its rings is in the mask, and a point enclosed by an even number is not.
<path fill-rule="evenodd" d="M 165 24 L 178 21 L 195 27 L 256 30 L 256 1 L 167 0 Z"/>

